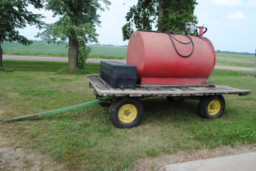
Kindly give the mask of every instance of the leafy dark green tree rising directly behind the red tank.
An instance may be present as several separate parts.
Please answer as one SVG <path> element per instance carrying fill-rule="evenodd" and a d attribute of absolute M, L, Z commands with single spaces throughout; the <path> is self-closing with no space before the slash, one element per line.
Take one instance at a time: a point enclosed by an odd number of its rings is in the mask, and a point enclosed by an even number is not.
<path fill-rule="evenodd" d="M 196 0 L 138 0 L 125 17 L 128 22 L 122 27 L 123 40 L 130 38 L 134 24 L 137 29 L 151 30 L 152 23 L 157 23 L 159 32 L 185 33 L 186 22 L 197 24 L 196 5 Z"/>

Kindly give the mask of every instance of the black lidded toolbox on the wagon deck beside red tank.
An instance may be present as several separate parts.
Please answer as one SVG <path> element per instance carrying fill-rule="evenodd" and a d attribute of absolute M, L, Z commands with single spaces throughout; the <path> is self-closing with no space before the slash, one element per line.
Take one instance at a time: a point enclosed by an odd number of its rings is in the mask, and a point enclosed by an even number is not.
<path fill-rule="evenodd" d="M 117 61 L 101 61 L 101 79 L 113 88 L 135 88 L 137 67 Z"/>

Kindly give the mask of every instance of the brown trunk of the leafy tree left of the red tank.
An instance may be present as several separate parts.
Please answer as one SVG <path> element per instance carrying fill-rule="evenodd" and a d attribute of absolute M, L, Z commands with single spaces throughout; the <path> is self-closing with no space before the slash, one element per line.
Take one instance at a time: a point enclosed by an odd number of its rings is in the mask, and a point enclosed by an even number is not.
<path fill-rule="evenodd" d="M 76 70 L 78 69 L 78 41 L 68 37 L 68 69 Z"/>

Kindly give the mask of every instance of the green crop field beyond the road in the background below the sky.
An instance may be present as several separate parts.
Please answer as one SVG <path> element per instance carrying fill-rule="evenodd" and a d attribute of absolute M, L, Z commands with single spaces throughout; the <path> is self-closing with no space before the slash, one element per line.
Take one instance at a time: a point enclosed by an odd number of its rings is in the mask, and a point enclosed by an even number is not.
<path fill-rule="evenodd" d="M 117 46 L 89 45 L 92 49 L 88 58 L 101 59 L 126 59 L 127 48 Z M 2 44 L 3 54 L 21 56 L 42 57 L 67 57 L 65 44 L 47 44 L 45 42 L 34 42 L 30 46 L 24 46 L 17 42 Z M 255 57 L 253 55 L 235 55 L 216 53 L 216 65 L 251 67 L 254 68 Z"/>

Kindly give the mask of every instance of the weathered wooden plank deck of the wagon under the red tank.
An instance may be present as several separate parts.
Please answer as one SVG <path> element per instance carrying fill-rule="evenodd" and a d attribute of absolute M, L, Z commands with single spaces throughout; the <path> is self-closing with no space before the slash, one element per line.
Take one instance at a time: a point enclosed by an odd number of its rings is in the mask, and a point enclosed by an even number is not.
<path fill-rule="evenodd" d="M 90 88 L 94 88 L 101 96 L 202 96 L 202 95 L 249 95 L 250 90 L 207 82 L 205 85 L 136 85 L 134 89 L 112 88 L 100 76 L 88 75 Z"/>

